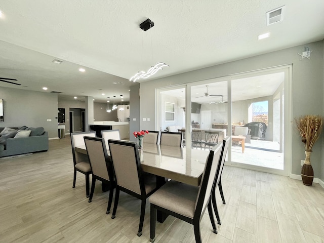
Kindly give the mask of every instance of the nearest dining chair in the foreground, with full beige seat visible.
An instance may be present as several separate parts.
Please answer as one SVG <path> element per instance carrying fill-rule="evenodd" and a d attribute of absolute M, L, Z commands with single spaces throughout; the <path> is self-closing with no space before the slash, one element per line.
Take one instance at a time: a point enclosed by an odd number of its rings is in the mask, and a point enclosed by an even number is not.
<path fill-rule="evenodd" d="M 192 224 L 195 240 L 200 243 L 200 220 L 204 216 L 206 208 L 208 208 L 213 231 L 217 233 L 210 198 L 218 171 L 220 153 L 221 144 L 217 144 L 210 150 L 199 187 L 171 180 L 151 195 L 149 199 L 151 204 L 151 242 L 155 240 L 157 210 Z"/>

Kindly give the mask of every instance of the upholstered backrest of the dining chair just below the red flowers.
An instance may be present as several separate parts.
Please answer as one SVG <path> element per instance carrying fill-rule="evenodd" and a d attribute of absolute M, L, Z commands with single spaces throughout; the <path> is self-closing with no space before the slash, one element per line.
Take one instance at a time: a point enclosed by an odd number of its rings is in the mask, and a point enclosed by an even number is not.
<path fill-rule="evenodd" d="M 140 166 L 137 143 L 108 140 L 116 183 L 137 194 L 141 194 L 138 166 Z M 138 165 L 139 163 L 139 165 Z"/>

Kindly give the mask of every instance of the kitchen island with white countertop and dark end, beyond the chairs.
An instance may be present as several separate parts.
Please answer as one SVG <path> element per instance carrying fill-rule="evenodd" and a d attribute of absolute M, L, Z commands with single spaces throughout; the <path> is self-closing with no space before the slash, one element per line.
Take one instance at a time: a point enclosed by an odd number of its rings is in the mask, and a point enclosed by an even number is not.
<path fill-rule="evenodd" d="M 89 124 L 90 129 L 96 132 L 97 137 L 101 137 L 101 131 L 104 130 L 119 130 L 120 139 L 127 139 L 130 137 L 130 123 L 120 121 L 94 121 Z"/>

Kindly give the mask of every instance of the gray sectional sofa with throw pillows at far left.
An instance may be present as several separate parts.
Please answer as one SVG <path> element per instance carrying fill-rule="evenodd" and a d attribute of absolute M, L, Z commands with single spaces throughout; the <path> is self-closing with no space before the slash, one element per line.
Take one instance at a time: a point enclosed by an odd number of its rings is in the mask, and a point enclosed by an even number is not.
<path fill-rule="evenodd" d="M 5 129 L 0 128 L 0 157 L 47 151 L 49 149 L 48 132 L 44 131 L 42 127 L 28 128 L 23 126 L 11 128 L 11 130 L 7 128 L 7 132 L 4 133 Z M 19 136 L 18 133 L 24 134 L 24 136 Z"/>

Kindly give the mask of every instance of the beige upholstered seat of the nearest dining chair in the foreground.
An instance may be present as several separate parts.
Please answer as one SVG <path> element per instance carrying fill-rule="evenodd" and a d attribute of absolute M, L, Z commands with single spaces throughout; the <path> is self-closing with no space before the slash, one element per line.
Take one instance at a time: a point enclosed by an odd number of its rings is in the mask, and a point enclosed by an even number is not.
<path fill-rule="evenodd" d="M 193 218 L 198 189 L 197 186 L 171 180 L 153 193 L 149 201 L 156 206 Z"/>

